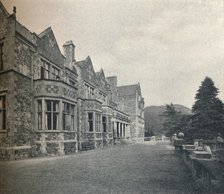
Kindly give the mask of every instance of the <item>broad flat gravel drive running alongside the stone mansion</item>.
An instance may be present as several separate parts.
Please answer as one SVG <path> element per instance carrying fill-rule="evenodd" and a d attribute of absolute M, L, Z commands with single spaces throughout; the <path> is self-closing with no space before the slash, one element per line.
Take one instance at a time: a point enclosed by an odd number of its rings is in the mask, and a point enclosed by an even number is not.
<path fill-rule="evenodd" d="M 0 193 L 195 193 L 169 143 L 112 146 L 72 156 L 0 162 Z"/>

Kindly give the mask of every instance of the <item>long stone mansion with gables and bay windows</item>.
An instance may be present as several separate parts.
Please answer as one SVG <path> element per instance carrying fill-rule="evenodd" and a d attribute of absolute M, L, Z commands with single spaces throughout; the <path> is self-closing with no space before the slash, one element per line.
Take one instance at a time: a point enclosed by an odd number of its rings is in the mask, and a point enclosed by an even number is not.
<path fill-rule="evenodd" d="M 52 29 L 30 32 L 0 2 L 0 160 L 76 153 L 144 140 L 140 84 L 62 54 Z"/>

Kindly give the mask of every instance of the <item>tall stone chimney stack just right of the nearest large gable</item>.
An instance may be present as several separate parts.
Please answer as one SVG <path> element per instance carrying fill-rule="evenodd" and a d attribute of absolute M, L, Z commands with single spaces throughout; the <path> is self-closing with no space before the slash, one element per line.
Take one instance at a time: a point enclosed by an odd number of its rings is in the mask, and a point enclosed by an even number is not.
<path fill-rule="evenodd" d="M 70 40 L 63 45 L 63 48 L 65 55 L 65 66 L 71 67 L 73 62 L 75 62 L 75 45 Z"/>

